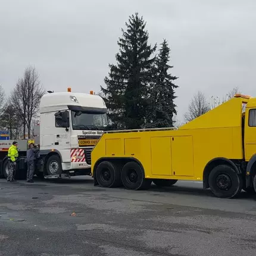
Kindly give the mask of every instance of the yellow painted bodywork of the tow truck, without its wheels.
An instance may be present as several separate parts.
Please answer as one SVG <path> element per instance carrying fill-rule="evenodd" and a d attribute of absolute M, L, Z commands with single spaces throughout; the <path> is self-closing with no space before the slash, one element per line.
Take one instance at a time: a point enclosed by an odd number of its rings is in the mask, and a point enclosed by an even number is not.
<path fill-rule="evenodd" d="M 255 98 L 233 98 L 178 130 L 104 133 L 92 151 L 92 170 L 100 158 L 132 157 L 146 178 L 202 180 L 214 158 L 248 160 L 256 153 L 256 127 L 248 127 L 246 108 L 244 156 L 243 103 L 256 108 Z"/>

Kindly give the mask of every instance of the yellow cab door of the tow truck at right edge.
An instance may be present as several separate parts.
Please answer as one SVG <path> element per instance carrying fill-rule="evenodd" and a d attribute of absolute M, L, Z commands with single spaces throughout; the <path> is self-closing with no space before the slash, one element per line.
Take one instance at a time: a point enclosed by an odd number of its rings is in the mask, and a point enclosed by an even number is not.
<path fill-rule="evenodd" d="M 256 108 L 246 108 L 244 134 L 245 160 L 256 154 Z"/>

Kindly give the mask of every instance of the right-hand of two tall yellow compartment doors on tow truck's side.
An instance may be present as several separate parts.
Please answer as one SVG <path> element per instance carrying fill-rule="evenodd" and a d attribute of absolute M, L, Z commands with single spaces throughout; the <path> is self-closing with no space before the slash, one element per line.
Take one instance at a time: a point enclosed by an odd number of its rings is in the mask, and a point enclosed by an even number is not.
<path fill-rule="evenodd" d="M 192 136 L 177 136 L 171 138 L 171 165 L 173 175 L 194 175 Z"/>

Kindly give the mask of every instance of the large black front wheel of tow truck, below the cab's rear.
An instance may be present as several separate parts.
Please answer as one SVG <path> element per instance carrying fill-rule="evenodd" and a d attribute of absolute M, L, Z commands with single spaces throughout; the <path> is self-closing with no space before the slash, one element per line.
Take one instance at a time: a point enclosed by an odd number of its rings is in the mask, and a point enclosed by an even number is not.
<path fill-rule="evenodd" d="M 216 166 L 209 175 L 211 191 L 219 198 L 234 198 L 243 187 L 242 178 L 226 165 Z"/>

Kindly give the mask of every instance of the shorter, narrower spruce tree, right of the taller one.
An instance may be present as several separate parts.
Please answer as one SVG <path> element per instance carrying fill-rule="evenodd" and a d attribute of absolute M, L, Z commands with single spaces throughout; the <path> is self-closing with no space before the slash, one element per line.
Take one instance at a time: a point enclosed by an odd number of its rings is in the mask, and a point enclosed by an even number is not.
<path fill-rule="evenodd" d="M 170 48 L 167 40 L 161 43 L 161 48 L 155 60 L 154 79 L 151 83 L 151 105 L 148 109 L 148 127 L 172 127 L 173 115 L 177 114 L 174 104 L 174 89 L 179 86 L 174 84 L 176 76 L 170 74 L 173 66 L 169 65 Z"/>

